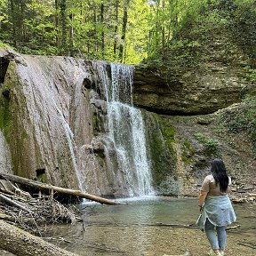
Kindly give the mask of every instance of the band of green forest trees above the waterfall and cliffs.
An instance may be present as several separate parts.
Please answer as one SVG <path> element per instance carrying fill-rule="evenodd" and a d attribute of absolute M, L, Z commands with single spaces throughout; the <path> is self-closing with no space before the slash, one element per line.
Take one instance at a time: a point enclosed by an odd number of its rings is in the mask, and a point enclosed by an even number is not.
<path fill-rule="evenodd" d="M 137 64 L 237 24 L 237 40 L 253 48 L 255 15 L 254 0 L 0 0 L 0 46 Z"/>

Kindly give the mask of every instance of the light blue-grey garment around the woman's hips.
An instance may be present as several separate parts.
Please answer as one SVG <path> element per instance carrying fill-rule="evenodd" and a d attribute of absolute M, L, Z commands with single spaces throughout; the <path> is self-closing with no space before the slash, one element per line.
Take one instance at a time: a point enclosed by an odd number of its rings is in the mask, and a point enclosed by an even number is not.
<path fill-rule="evenodd" d="M 202 212 L 196 221 L 202 231 L 204 231 L 206 219 L 215 227 L 227 226 L 236 221 L 236 213 L 228 196 L 206 197 Z"/>

